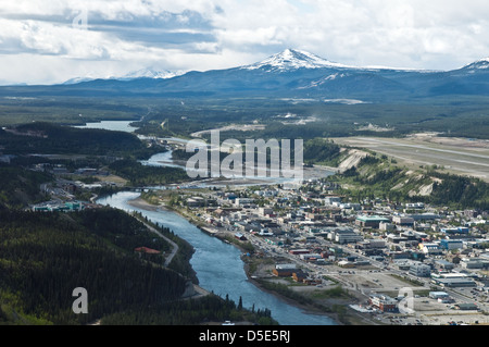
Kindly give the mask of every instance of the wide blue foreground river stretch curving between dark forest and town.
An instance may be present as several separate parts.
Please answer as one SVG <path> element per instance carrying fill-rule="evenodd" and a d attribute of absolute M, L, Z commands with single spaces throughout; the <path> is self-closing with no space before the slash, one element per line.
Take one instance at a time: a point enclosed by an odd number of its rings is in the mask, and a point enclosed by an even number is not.
<path fill-rule="evenodd" d="M 172 211 L 149 211 L 135 208 L 130 200 L 139 197 L 139 193 L 122 191 L 110 197 L 100 198 L 97 202 L 125 211 L 138 211 L 154 223 L 171 228 L 176 235 L 187 240 L 195 248 L 190 260 L 199 278 L 199 285 L 223 298 L 228 295 L 238 302 L 239 297 L 247 308 L 267 308 L 272 317 L 280 325 L 336 325 L 327 315 L 309 314 L 291 306 L 272 294 L 261 290 L 248 281 L 241 252 L 235 246 L 212 237 L 183 216 Z"/>

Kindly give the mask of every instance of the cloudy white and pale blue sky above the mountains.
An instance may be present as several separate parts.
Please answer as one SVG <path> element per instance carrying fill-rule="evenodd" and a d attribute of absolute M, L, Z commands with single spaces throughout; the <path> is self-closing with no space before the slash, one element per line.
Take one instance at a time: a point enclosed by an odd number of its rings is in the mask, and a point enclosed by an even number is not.
<path fill-rule="evenodd" d="M 479 0 L 0 0 L 0 83 L 226 69 L 286 48 L 358 66 L 489 57 Z"/>

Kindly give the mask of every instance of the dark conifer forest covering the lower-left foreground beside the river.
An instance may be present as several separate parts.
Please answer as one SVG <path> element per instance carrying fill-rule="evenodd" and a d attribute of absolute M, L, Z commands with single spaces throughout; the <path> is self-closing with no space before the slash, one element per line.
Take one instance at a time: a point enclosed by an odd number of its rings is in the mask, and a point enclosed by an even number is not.
<path fill-rule="evenodd" d="M 189 278 L 163 268 L 162 255 L 135 251 L 142 246 L 162 253 L 170 248 L 123 211 L 1 210 L 0 324 L 272 322 L 269 312 L 249 312 L 214 295 L 181 301 Z M 77 287 L 87 289 L 87 314 L 72 310 Z"/>

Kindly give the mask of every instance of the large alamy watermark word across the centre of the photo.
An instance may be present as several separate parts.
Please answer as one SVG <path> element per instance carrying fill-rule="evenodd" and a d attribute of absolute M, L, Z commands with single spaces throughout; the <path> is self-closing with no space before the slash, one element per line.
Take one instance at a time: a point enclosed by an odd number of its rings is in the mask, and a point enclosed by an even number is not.
<path fill-rule="evenodd" d="M 192 139 L 186 151 L 195 154 L 187 161 L 186 171 L 190 178 L 291 178 L 291 183 L 303 181 L 303 140 L 247 139 L 243 145 L 237 139 L 221 142 L 218 131 L 211 132 L 211 144 Z M 222 153 L 227 156 L 221 161 Z M 289 182 L 290 183 L 290 182 Z"/>

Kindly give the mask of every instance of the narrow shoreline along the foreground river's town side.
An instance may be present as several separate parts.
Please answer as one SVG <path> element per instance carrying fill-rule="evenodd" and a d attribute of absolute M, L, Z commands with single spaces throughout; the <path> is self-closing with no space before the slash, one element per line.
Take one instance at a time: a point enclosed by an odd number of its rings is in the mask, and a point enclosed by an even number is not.
<path fill-rule="evenodd" d="M 193 225 L 196 225 L 196 226 L 197 226 L 200 231 L 202 231 L 203 233 L 205 233 L 205 234 L 208 234 L 208 235 L 210 235 L 210 236 L 213 236 L 213 237 L 217 237 L 217 238 L 220 238 L 222 241 L 226 241 L 226 239 L 223 238 L 222 236 L 220 236 L 217 233 L 215 233 L 215 234 L 214 234 L 214 233 L 211 233 L 211 232 L 206 231 L 205 228 L 201 227 L 200 225 L 197 225 L 196 223 L 193 223 L 191 220 L 188 220 L 187 216 L 185 216 L 184 214 L 181 214 L 181 213 L 180 213 L 179 211 L 177 211 L 177 210 L 173 210 L 173 209 L 170 209 L 170 208 L 164 207 L 164 206 L 154 206 L 154 205 L 151 205 L 151 203 L 145 201 L 141 197 L 138 197 L 138 198 L 133 199 L 133 200 L 128 200 L 127 203 L 130 205 L 131 207 L 135 207 L 135 208 L 138 208 L 138 209 L 142 209 L 142 210 L 147 210 L 147 211 L 153 211 L 153 212 L 155 212 L 155 211 L 159 211 L 159 210 L 165 210 L 165 211 L 174 212 L 174 213 L 180 215 L 181 218 L 186 219 L 187 221 L 189 221 L 189 222 L 192 223 Z M 242 249 L 241 247 L 239 247 L 239 245 L 237 245 L 237 244 L 235 244 L 235 243 L 229 243 L 229 244 L 233 245 L 233 246 L 235 246 L 235 247 L 237 247 L 239 250 L 246 252 L 246 250 Z M 242 259 L 241 259 L 241 260 L 242 260 Z M 334 314 L 325 313 L 325 312 L 322 312 L 321 310 L 318 310 L 318 309 L 316 309 L 316 308 L 311 308 L 311 307 L 309 307 L 309 306 L 301 305 L 301 303 L 297 302 L 297 301 L 293 300 L 293 299 L 290 299 L 290 298 L 288 298 L 288 297 L 286 297 L 286 296 L 279 295 L 279 294 L 277 294 L 277 293 L 275 293 L 275 292 L 273 292 L 273 290 L 269 290 L 269 289 L 264 288 L 258 281 L 255 281 L 254 278 L 251 277 L 251 274 L 250 274 L 250 272 L 249 272 L 249 264 L 248 264 L 244 260 L 242 260 L 242 262 L 243 262 L 243 269 L 244 269 L 244 273 L 246 273 L 246 275 L 247 275 L 248 281 L 249 281 L 251 284 L 253 284 L 256 288 L 259 288 L 260 290 L 262 290 L 262 292 L 264 292 L 264 293 L 267 293 L 267 294 L 271 294 L 271 295 L 274 295 L 274 296 L 277 297 L 278 299 L 280 299 L 280 300 L 287 302 L 288 305 L 293 306 L 293 307 L 296 307 L 296 308 L 302 310 L 305 314 L 324 315 L 324 317 L 329 318 L 331 321 L 334 321 L 336 325 L 344 325 L 344 324 L 341 323 L 336 317 L 334 317 Z"/>

